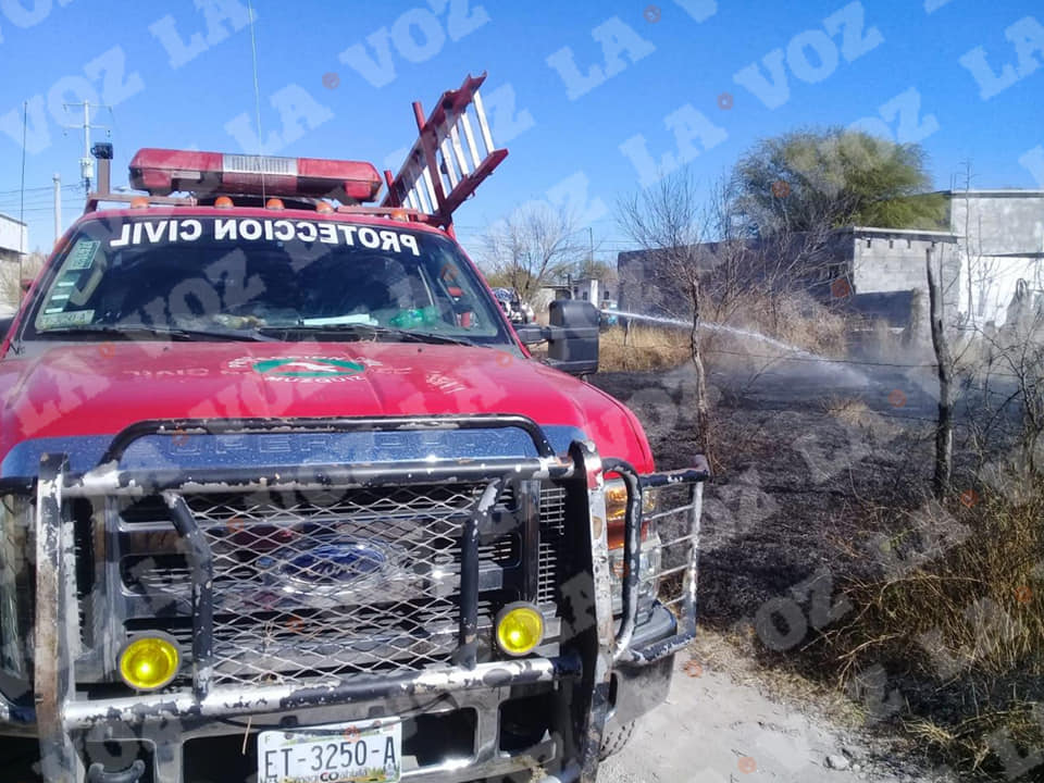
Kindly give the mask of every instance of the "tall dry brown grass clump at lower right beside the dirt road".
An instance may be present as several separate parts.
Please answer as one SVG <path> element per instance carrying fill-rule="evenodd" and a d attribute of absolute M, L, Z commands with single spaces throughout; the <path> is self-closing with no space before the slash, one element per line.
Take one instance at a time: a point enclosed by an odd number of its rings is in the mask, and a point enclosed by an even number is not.
<path fill-rule="evenodd" d="M 1044 747 L 1044 486 L 1036 490 L 1018 501 L 966 493 L 948 510 L 879 509 L 874 529 L 893 520 L 879 542 L 892 568 L 849 583 L 859 611 L 823 639 L 843 680 L 875 663 L 903 672 L 906 731 L 986 778 L 1004 774 L 995 732 L 1022 754 Z"/>

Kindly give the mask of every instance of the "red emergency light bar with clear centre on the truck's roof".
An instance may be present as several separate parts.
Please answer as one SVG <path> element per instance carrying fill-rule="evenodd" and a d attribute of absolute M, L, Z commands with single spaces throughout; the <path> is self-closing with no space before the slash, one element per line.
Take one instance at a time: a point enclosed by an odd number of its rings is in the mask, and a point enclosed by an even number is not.
<path fill-rule="evenodd" d="M 150 196 L 221 192 L 359 203 L 376 198 L 381 177 L 362 161 L 142 149 L 130 161 L 130 185 Z"/>

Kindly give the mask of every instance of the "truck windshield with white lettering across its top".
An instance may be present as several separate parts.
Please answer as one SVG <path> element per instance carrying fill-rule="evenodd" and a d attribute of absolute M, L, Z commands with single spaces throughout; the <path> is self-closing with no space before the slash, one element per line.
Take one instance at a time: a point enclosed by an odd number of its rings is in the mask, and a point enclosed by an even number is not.
<path fill-rule="evenodd" d="M 508 344 L 453 241 L 332 220 L 85 223 L 23 339 L 420 339 Z M 108 337 L 107 337 L 108 338 Z"/>

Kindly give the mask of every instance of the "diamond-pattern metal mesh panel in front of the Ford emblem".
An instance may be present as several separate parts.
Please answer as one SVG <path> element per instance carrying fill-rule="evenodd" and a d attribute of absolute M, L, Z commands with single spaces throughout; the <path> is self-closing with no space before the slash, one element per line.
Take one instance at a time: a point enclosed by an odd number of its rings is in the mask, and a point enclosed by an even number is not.
<path fill-rule="evenodd" d="M 460 533 L 478 488 L 190 498 L 213 554 L 215 675 L 294 680 L 448 660 Z"/>

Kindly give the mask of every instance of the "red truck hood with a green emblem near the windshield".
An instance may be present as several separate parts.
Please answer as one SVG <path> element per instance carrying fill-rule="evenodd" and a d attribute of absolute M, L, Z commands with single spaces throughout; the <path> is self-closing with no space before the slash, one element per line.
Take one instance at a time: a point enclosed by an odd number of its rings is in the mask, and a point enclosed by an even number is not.
<path fill-rule="evenodd" d="M 634 415 L 577 378 L 492 348 L 405 343 L 64 344 L 0 362 L 0 474 L 70 438 L 108 445 L 144 420 L 514 413 L 582 431 L 651 470 Z M 550 435 L 549 435 L 550 437 Z M 561 443 L 556 443 L 561 447 Z M 567 440 L 568 443 L 568 440 Z M 35 445 L 35 446 L 34 446 Z M 26 453 L 26 451 L 32 453 Z"/>

